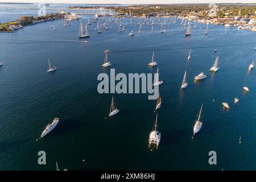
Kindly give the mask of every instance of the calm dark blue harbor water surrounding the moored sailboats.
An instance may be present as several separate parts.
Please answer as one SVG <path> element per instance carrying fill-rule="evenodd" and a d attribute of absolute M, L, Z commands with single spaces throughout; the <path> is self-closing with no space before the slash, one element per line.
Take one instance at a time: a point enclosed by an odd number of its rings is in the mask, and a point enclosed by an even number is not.
<path fill-rule="evenodd" d="M 0 10 L 2 19 L 20 15 L 19 10 L 11 15 L 6 11 Z M 185 37 L 180 21 L 167 22 L 164 34 L 159 26 L 152 33 L 151 26 L 144 25 L 141 35 L 136 19 L 126 33 L 112 23 L 112 30 L 101 28 L 102 34 L 96 34 L 97 24 L 92 23 L 88 44 L 76 42 L 80 21 L 68 27 L 55 21 L 56 31 L 46 22 L 0 34 L 0 169 L 55 170 L 57 161 L 60 169 L 68 170 L 255 170 L 256 72 L 247 68 L 256 61 L 256 34 L 210 24 L 204 35 L 206 25 L 198 24 Z M 159 68 L 164 83 L 158 150 L 150 151 L 147 145 L 156 115 L 156 101 L 147 100 L 147 94 L 114 94 L 120 113 L 107 117 L 113 94 L 97 92 L 98 74 L 110 72 L 101 67 L 107 49 L 114 51 L 109 57 L 116 73 L 155 73 Z M 152 51 L 146 51 L 152 49 L 158 62 L 153 69 L 147 65 Z M 220 70 L 212 74 L 216 56 Z M 56 72 L 47 73 L 48 59 Z M 180 92 L 185 70 L 189 85 Z M 200 72 L 208 77 L 195 83 L 193 77 Z M 243 86 L 250 92 L 243 93 Z M 238 105 L 233 104 L 235 97 L 240 98 Z M 221 102 L 229 103 L 229 111 Z M 191 139 L 201 103 L 203 127 Z M 55 117 L 60 118 L 56 128 L 36 141 Z M 38 165 L 40 150 L 46 151 L 47 165 Z M 212 150 L 217 165 L 210 166 Z"/>

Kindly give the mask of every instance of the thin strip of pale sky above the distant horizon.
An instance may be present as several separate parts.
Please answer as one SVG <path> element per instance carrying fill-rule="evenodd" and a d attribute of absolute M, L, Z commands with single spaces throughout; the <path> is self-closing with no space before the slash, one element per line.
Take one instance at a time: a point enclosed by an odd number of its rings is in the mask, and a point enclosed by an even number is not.
<path fill-rule="evenodd" d="M 81 3 L 81 4 L 171 4 L 171 3 L 255 3 L 255 0 L 0 0 L 0 2 L 35 2 L 35 3 Z"/>

